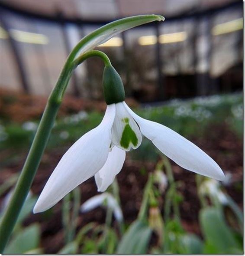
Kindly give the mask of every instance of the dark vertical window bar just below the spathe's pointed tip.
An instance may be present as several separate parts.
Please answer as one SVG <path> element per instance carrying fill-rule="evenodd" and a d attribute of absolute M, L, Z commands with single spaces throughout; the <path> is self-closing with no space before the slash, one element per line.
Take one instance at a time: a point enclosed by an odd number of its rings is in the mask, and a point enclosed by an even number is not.
<path fill-rule="evenodd" d="M 157 37 L 157 43 L 155 47 L 155 54 L 156 54 L 156 61 L 157 61 L 157 72 L 158 72 L 158 100 L 164 100 L 165 99 L 165 90 L 164 90 L 164 75 L 161 72 L 162 69 L 162 62 L 161 62 L 161 45 L 159 43 L 159 25 L 158 23 L 155 25 L 155 33 Z"/>

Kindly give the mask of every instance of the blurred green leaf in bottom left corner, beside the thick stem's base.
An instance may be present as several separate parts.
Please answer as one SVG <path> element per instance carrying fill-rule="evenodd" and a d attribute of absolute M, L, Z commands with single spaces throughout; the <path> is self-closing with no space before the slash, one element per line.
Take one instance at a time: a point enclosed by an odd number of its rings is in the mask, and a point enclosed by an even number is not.
<path fill-rule="evenodd" d="M 40 226 L 32 224 L 19 232 L 10 241 L 4 254 L 22 254 L 32 249 L 36 249 L 40 242 Z"/>

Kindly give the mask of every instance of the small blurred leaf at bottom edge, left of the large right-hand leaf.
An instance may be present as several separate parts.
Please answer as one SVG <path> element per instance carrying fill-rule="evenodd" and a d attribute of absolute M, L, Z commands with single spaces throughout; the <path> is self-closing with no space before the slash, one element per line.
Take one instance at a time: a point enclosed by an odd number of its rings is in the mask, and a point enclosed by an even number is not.
<path fill-rule="evenodd" d="M 182 248 L 185 254 L 202 254 L 203 242 L 194 234 L 187 234 L 181 237 Z"/>

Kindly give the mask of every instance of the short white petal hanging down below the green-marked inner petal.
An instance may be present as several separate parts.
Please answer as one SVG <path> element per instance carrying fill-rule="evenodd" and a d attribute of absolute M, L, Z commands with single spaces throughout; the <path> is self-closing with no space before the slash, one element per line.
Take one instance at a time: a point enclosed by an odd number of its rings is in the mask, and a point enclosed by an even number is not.
<path fill-rule="evenodd" d="M 99 192 L 104 192 L 113 183 L 116 174 L 122 170 L 126 152 L 116 146 L 109 153 L 104 166 L 95 174 L 95 182 Z"/>

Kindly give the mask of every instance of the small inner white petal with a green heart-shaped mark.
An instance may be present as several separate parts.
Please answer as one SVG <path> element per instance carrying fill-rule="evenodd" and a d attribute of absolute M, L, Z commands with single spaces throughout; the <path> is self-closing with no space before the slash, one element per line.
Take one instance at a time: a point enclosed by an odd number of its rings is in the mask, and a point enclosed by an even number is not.
<path fill-rule="evenodd" d="M 116 103 L 116 115 L 112 127 L 112 141 L 125 151 L 138 148 L 142 142 L 139 126 L 122 102 Z"/>

